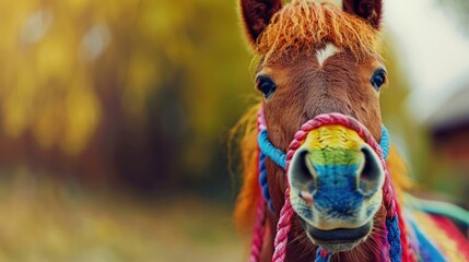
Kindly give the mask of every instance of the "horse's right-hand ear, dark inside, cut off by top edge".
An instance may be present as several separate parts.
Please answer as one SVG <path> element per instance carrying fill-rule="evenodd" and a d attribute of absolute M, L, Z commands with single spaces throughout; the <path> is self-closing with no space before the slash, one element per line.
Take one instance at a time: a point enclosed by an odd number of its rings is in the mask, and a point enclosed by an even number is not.
<path fill-rule="evenodd" d="M 367 21 L 376 29 L 380 28 L 383 0 L 343 0 L 343 10 Z"/>

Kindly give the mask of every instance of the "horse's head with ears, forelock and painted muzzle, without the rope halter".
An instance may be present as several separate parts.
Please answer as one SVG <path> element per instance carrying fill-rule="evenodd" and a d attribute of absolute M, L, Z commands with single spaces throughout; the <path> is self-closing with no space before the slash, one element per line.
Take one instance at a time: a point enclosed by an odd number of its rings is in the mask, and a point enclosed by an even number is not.
<path fill-rule="evenodd" d="M 379 141 L 379 90 L 386 84 L 375 46 L 380 7 L 378 0 L 347 0 L 343 10 L 300 0 L 283 8 L 274 0 L 242 0 L 248 39 L 262 57 L 256 86 L 275 146 L 285 151 L 302 123 L 328 112 L 354 117 Z M 372 231 L 383 169 L 353 132 L 318 132 L 292 158 L 291 202 L 314 243 L 345 251 Z M 269 181 L 279 181 L 281 171 L 268 168 Z M 278 211 L 279 187 L 270 183 Z"/>

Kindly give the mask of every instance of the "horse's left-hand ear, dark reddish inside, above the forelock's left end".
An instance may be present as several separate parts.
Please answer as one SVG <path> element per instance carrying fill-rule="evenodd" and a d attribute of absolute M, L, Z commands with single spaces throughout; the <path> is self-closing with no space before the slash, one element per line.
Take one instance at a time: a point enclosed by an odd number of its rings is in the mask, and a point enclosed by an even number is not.
<path fill-rule="evenodd" d="M 281 0 L 241 0 L 244 28 L 251 45 L 281 8 Z"/>

